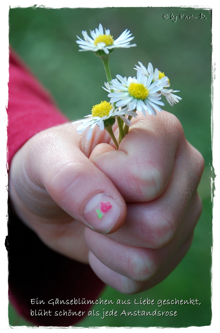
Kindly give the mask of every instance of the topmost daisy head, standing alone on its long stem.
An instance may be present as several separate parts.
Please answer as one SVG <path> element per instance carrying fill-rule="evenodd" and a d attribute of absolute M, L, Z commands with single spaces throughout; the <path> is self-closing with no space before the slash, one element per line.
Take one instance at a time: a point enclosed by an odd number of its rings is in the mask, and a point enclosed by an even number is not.
<path fill-rule="evenodd" d="M 105 33 L 103 31 L 102 25 L 99 24 L 98 29 L 90 30 L 91 37 L 88 36 L 86 31 L 82 31 L 83 39 L 77 36 L 79 39 L 76 41 L 79 44 L 79 47 L 82 50 L 79 51 L 98 51 L 102 50 L 105 54 L 109 54 L 109 50 L 115 48 L 129 48 L 132 46 L 136 46 L 136 44 L 130 44 L 131 40 L 134 37 L 131 37 L 130 30 L 126 29 L 116 40 L 110 35 L 109 29 L 105 29 Z"/>

